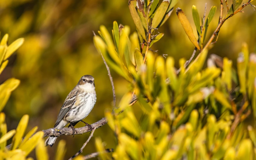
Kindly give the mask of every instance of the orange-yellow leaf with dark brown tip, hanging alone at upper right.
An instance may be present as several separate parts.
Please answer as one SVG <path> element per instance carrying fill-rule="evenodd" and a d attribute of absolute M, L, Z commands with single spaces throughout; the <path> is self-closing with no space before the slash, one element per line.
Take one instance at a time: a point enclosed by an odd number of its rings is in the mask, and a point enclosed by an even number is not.
<path fill-rule="evenodd" d="M 189 23 L 189 20 L 186 17 L 186 15 L 184 14 L 184 12 L 182 11 L 182 9 L 177 8 L 176 14 L 186 32 L 186 34 L 188 35 L 189 40 L 196 46 L 197 49 L 201 50 L 201 48 L 199 47 L 199 45 L 197 43 L 197 40 L 195 39 L 195 35 L 193 34 L 193 29 Z"/>

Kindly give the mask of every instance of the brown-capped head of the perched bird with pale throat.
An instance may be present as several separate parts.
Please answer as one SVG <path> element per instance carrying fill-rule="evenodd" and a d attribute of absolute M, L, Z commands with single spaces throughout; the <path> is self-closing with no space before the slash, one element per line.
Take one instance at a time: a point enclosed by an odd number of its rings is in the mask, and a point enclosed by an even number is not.
<path fill-rule="evenodd" d="M 84 75 L 78 82 L 78 87 L 86 92 L 95 91 L 94 78 L 91 75 Z"/>

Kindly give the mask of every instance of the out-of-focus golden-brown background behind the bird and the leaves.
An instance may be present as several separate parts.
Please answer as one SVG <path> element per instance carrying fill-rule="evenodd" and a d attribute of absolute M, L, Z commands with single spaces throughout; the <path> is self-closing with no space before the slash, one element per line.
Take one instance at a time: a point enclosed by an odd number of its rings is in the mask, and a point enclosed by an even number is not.
<path fill-rule="evenodd" d="M 219 0 L 180 0 L 175 9 L 180 7 L 185 12 L 197 35 L 191 8 L 193 4 L 196 5 L 202 16 L 205 3 L 207 14 L 211 6 L 217 6 L 208 28 L 209 38 L 218 24 Z M 225 15 L 227 9 L 225 4 L 223 6 Z M 209 51 L 210 54 L 232 59 L 234 66 L 242 42 L 248 44 L 250 52 L 255 52 L 256 12 L 251 6 L 243 11 L 245 13 L 238 13 L 224 23 L 218 42 Z M 92 31 L 97 33 L 99 26 L 105 25 L 111 33 L 113 21 L 129 25 L 131 33 L 136 31 L 127 0 L 0 0 L 1 38 L 8 33 L 9 44 L 17 38 L 25 38 L 24 44 L 9 58 L 8 67 L 0 76 L 0 84 L 10 77 L 21 80 L 3 111 L 7 115 L 8 131 L 16 128 L 24 114 L 30 116 L 28 130 L 34 126 L 38 126 L 39 130 L 52 128 L 66 96 L 80 77 L 86 74 L 95 78 L 97 102 L 85 121 L 92 124 L 104 117 L 104 110 L 112 108 L 112 88 L 106 67 L 93 45 Z M 179 58 L 190 58 L 194 46 L 175 11 L 159 32 L 164 33 L 164 37 L 152 46 L 158 50 L 157 54 L 174 57 L 176 64 Z M 129 90 L 129 85 L 114 71 L 111 73 L 118 102 Z M 138 106 L 134 105 L 133 109 L 139 119 L 141 114 Z M 76 125 L 82 126 L 84 124 L 81 122 Z M 116 140 L 109 126 L 96 130 L 94 137 L 98 136 L 105 142 L 105 148 L 115 149 Z M 89 133 L 72 137 L 61 136 L 56 141 L 66 140 L 65 159 L 80 149 Z M 52 148 L 48 147 L 50 159 L 54 159 L 56 148 L 57 143 Z M 94 151 L 93 138 L 82 154 Z M 30 156 L 34 157 L 34 152 Z"/>

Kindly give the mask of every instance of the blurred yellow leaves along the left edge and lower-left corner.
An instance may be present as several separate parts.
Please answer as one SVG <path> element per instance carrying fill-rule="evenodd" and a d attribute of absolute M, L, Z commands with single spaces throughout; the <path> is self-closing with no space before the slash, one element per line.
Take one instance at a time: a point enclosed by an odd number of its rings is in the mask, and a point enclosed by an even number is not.
<path fill-rule="evenodd" d="M 8 34 L 3 36 L 0 43 L 0 74 L 8 64 L 10 55 L 15 52 L 23 43 L 24 39 L 20 38 L 15 40 L 9 46 L 7 46 Z M 10 78 L 0 85 L 0 111 L 3 110 L 6 102 L 8 101 L 11 92 L 18 87 L 20 80 Z M 43 132 L 36 132 L 37 127 L 34 127 L 31 131 L 25 135 L 29 122 L 29 115 L 23 115 L 16 130 L 7 132 L 7 125 L 5 122 L 5 114 L 0 113 L 0 159 L 31 159 L 26 158 L 31 151 L 36 148 L 36 157 L 39 160 L 48 160 L 47 149 L 44 146 L 42 139 Z M 35 133 L 35 134 L 34 134 Z M 34 134 L 34 135 L 33 135 Z M 31 137 L 33 135 L 33 137 Z M 22 140 L 22 138 L 24 139 Z M 6 148 L 7 140 L 11 139 L 10 150 Z M 58 145 L 58 151 L 56 159 L 61 160 L 65 155 L 65 142 L 61 140 Z"/>

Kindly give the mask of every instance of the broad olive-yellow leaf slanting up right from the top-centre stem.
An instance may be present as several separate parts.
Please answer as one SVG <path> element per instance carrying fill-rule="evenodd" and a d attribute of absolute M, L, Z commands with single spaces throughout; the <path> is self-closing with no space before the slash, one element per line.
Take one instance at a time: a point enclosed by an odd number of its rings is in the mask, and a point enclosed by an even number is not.
<path fill-rule="evenodd" d="M 163 16 L 165 15 L 167 9 L 169 6 L 168 0 L 163 0 L 163 2 L 160 4 L 160 6 L 157 8 L 156 13 L 153 17 L 151 28 L 157 28 L 158 25 L 161 25 L 160 22 L 163 19 Z"/>

